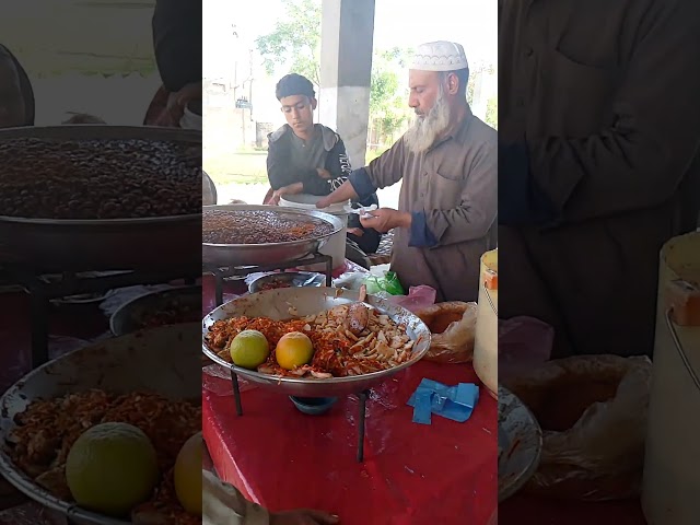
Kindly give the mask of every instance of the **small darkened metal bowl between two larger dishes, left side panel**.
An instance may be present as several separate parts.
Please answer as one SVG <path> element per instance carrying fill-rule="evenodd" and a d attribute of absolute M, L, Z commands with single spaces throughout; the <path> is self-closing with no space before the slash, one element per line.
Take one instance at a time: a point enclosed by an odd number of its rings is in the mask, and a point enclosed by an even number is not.
<path fill-rule="evenodd" d="M 197 314 L 198 318 L 201 318 L 201 284 L 159 290 L 139 295 L 124 303 L 112 314 L 109 329 L 115 336 L 124 336 L 148 328 L 143 325 L 148 315 L 168 310 L 173 305 L 191 310 Z M 188 320 L 186 323 L 194 322 Z"/>

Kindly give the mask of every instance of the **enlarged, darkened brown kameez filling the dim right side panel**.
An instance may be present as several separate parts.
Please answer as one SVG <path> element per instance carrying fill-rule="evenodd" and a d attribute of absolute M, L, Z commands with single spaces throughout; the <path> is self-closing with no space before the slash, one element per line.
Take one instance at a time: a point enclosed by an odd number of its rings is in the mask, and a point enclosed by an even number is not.
<path fill-rule="evenodd" d="M 499 138 L 557 214 L 499 228 L 499 313 L 551 323 L 556 355 L 649 354 L 660 248 L 698 220 L 700 2 L 499 10 Z"/>

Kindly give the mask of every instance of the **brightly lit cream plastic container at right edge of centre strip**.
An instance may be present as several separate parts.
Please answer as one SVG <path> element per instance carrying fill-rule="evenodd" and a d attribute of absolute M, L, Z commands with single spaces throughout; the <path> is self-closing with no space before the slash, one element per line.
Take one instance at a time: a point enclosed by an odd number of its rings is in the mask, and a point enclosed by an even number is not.
<path fill-rule="evenodd" d="M 499 250 L 481 256 L 477 328 L 474 339 L 474 371 L 492 397 L 499 388 L 499 290 L 498 279 L 489 279 L 489 272 L 498 276 Z M 490 282 L 491 284 L 487 284 Z"/>

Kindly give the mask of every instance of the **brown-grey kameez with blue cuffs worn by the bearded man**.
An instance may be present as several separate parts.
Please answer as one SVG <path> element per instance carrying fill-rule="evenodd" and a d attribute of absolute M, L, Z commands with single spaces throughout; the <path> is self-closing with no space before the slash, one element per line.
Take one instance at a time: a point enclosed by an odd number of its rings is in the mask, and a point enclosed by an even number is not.
<path fill-rule="evenodd" d="M 476 301 L 479 259 L 495 247 L 489 240 L 497 217 L 497 132 L 469 112 L 427 152 L 415 154 L 401 138 L 350 175 L 360 196 L 402 180 L 399 210 L 413 213 L 415 222 L 424 217 L 430 246 L 411 246 L 417 224 L 395 231 L 392 270 L 407 291 L 427 284 L 438 291 L 438 301 Z"/>

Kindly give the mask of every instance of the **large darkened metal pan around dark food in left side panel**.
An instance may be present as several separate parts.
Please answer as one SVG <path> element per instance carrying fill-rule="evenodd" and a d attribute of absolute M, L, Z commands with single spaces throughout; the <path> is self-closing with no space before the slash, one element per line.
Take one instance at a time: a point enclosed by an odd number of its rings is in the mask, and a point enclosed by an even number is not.
<path fill-rule="evenodd" d="M 18 138 L 168 141 L 201 148 L 201 131 L 131 126 L 52 126 L 0 130 Z M 51 220 L 0 214 L 0 253 L 43 271 L 151 270 L 182 267 L 201 238 L 199 213 L 177 217 Z"/>

